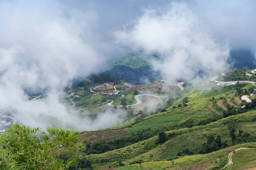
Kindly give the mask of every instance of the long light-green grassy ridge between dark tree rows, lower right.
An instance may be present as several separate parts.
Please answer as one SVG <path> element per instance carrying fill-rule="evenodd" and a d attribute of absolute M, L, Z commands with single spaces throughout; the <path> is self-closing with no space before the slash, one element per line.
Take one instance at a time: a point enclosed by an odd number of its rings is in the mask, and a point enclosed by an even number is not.
<path fill-rule="evenodd" d="M 195 147 L 201 146 L 202 143 L 206 142 L 205 134 L 213 133 L 215 137 L 217 135 L 221 136 L 222 140 L 227 140 L 231 143 L 229 131 L 227 129 L 228 123 L 233 120 L 239 125 L 239 129 L 247 131 L 253 135 L 256 135 L 255 126 L 256 123 L 253 120 L 253 116 L 256 116 L 256 111 L 230 116 L 216 122 L 210 123 L 205 126 L 198 126 L 192 128 L 185 128 L 175 130 L 179 132 L 180 135 L 167 141 L 163 145 L 157 145 L 157 136 L 147 139 L 143 142 L 138 142 L 130 146 L 120 148 L 118 150 L 113 150 L 107 153 L 102 153 L 98 155 L 90 155 L 89 158 L 93 161 L 94 166 L 104 165 L 96 163 L 104 160 L 105 162 L 114 163 L 117 161 L 125 161 L 128 163 L 134 162 L 136 160 L 142 159 L 143 161 L 164 159 L 170 156 L 175 156 L 177 152 L 185 147 L 192 149 L 189 145 L 191 139 L 196 140 Z M 251 123 L 249 123 L 251 122 Z M 173 132 L 169 131 L 168 133 Z M 151 157 L 151 155 L 153 157 Z M 96 165 L 97 164 L 97 165 Z M 107 166 L 106 164 L 105 166 Z"/>

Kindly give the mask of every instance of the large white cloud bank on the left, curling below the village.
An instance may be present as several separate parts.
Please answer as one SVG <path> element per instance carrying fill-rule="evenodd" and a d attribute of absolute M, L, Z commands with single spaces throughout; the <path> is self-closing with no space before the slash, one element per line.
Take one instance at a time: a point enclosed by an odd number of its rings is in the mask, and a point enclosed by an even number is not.
<path fill-rule="evenodd" d="M 58 97 L 74 77 L 105 69 L 94 12 L 66 9 L 50 0 L 1 2 L 0 25 L 0 110 L 17 111 L 17 119 L 41 127 L 52 125 L 49 118 L 79 130 L 120 123 L 119 115 L 109 112 L 94 122 L 80 119 Z M 48 88 L 48 97 L 29 101 L 23 86 Z"/>

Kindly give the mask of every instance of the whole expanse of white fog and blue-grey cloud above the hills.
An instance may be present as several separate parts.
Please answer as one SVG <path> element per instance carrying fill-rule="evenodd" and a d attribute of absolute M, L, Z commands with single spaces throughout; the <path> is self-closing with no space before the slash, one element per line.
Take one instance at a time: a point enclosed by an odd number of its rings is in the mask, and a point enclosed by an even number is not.
<path fill-rule="evenodd" d="M 113 0 L 112 10 L 111 2 L 100 0 L 0 2 L 0 111 L 15 111 L 31 126 L 52 126 L 52 120 L 77 130 L 119 125 L 123 116 L 110 110 L 93 122 L 81 119 L 61 103 L 64 87 L 107 71 L 111 58 L 137 49 L 160 54 L 151 64 L 164 79 L 223 71 L 230 48 L 256 45 L 253 4 Z M 47 88 L 47 97 L 31 101 L 23 87 Z"/>

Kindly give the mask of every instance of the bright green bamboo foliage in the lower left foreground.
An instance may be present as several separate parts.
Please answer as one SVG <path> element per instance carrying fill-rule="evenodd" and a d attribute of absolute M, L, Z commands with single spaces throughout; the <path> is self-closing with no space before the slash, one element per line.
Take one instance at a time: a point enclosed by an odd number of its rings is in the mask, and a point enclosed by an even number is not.
<path fill-rule="evenodd" d="M 63 170 L 76 166 L 81 145 L 77 145 L 78 131 L 47 128 L 47 133 L 39 127 L 31 128 L 15 124 L 0 135 L 1 170 Z M 41 135 L 39 138 L 38 135 Z M 57 147 L 67 151 L 66 161 L 52 152 Z"/>

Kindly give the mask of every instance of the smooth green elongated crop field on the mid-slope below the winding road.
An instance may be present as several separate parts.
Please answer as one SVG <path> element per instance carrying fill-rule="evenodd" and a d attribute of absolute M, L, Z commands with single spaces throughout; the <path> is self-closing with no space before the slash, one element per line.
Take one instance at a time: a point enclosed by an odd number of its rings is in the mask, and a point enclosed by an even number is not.
<path fill-rule="evenodd" d="M 137 131 L 143 130 L 143 129 L 157 129 L 159 127 L 177 124 L 181 117 L 175 117 L 175 116 L 161 116 L 161 117 L 153 117 L 149 119 L 145 119 L 141 122 L 138 122 L 137 124 L 133 125 L 133 127 L 129 128 L 131 133 L 136 133 Z"/>

